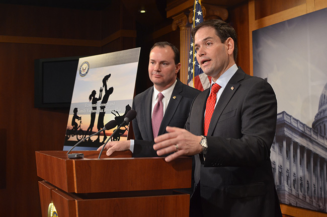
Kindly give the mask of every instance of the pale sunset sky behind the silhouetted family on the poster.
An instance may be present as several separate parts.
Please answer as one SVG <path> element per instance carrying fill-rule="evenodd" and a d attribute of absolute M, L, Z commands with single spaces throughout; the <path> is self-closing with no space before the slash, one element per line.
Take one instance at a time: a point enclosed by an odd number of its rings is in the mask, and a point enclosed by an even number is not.
<path fill-rule="evenodd" d="M 97 92 L 96 97 L 99 97 L 99 90 L 100 87 L 102 87 L 102 79 L 108 74 L 111 74 L 111 77 L 107 82 L 108 88 L 113 87 L 114 91 L 109 97 L 107 109 L 118 111 L 121 115 L 124 114 L 124 105 L 126 105 L 126 103 L 132 107 L 134 85 L 131 85 L 128 81 L 135 81 L 135 69 L 137 69 L 137 62 L 123 65 L 112 65 L 101 68 L 92 68 L 86 76 L 87 78 L 77 75 L 71 102 L 71 105 L 75 106 L 70 107 L 67 126 L 71 126 L 73 109 L 77 107 L 79 110 L 77 115 L 82 117 L 81 128 L 86 130 L 89 127 L 92 109 L 92 103 L 89 101 L 89 96 L 92 91 L 95 90 Z M 100 109 L 100 103 L 101 101 L 98 102 L 98 110 Z M 97 111 L 97 114 L 99 114 L 99 111 Z M 111 112 L 106 112 L 104 122 L 107 123 L 114 118 L 115 115 L 113 115 Z M 96 128 L 97 118 L 94 130 L 96 130 Z"/>

